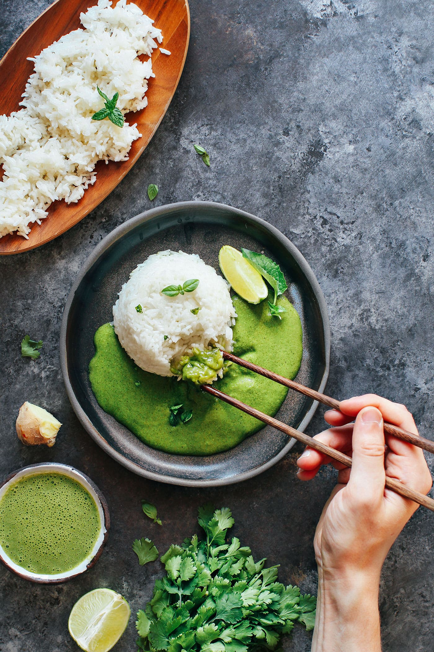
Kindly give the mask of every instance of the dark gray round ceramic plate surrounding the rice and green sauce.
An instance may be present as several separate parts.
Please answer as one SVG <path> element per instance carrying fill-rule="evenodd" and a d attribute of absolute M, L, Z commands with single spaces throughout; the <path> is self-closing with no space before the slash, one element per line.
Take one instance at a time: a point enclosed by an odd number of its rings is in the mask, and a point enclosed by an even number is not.
<path fill-rule="evenodd" d="M 88 364 L 94 333 L 113 320 L 122 284 L 139 264 L 161 250 L 199 254 L 219 269 L 223 244 L 264 251 L 288 280 L 288 298 L 303 325 L 303 361 L 297 381 L 323 391 L 329 373 L 330 329 L 318 281 L 299 250 L 264 220 L 230 206 L 185 201 L 141 213 L 109 233 L 83 265 L 70 291 L 61 329 L 61 365 L 66 391 L 88 434 L 115 460 L 144 477 L 172 484 L 230 484 L 262 473 L 295 443 L 267 426 L 234 449 L 208 457 L 172 455 L 146 446 L 105 413 L 94 397 Z M 277 419 L 304 430 L 318 403 L 290 391 Z"/>

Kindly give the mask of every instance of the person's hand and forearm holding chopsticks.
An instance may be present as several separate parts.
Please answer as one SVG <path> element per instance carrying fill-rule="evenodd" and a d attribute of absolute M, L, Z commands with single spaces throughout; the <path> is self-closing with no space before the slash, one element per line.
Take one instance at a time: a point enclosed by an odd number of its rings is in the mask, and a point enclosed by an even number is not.
<path fill-rule="evenodd" d="M 323 509 L 314 539 L 319 587 L 312 650 L 379 651 L 381 567 L 418 507 L 386 489 L 385 478 L 398 479 L 423 494 L 432 480 L 421 449 L 390 435 L 385 440 L 383 417 L 418 434 L 404 406 L 367 394 L 342 401 L 340 408 L 341 412 L 325 413 L 332 428 L 315 439 L 351 456 L 352 468 L 313 449 L 306 449 L 297 460 L 301 480 L 312 479 L 323 464 L 338 469 L 338 484 Z M 353 419 L 355 423 L 350 424 Z"/>

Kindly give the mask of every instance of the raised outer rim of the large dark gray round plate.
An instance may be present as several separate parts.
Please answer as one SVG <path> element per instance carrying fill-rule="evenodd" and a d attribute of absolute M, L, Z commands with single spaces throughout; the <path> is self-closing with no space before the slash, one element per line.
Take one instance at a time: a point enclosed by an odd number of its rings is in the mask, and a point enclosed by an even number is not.
<path fill-rule="evenodd" d="M 113 446 L 111 446 L 111 444 L 109 444 L 106 441 L 105 437 L 103 437 L 103 435 L 99 432 L 96 426 L 94 426 L 92 421 L 90 421 L 90 418 L 88 417 L 87 413 L 81 407 L 81 404 L 77 400 L 68 372 L 68 350 L 67 350 L 66 340 L 67 340 L 68 318 L 70 314 L 70 309 L 74 302 L 75 292 L 79 288 L 81 281 L 88 273 L 88 271 L 92 268 L 94 263 L 96 263 L 98 259 L 100 259 L 100 256 L 102 256 L 107 250 L 109 250 L 111 246 L 113 246 L 118 240 L 124 237 L 124 235 L 129 233 L 129 231 L 133 230 L 135 227 L 141 224 L 146 224 L 151 220 L 154 220 L 161 216 L 171 215 L 172 213 L 176 213 L 179 210 L 187 209 L 193 211 L 198 208 L 204 211 L 212 210 L 212 209 L 214 210 L 217 209 L 217 211 L 222 211 L 222 212 L 230 211 L 230 213 L 233 213 L 233 215 L 236 218 L 247 220 L 252 224 L 256 224 L 257 226 L 260 226 L 264 230 L 271 233 L 271 235 L 273 235 L 273 237 L 275 237 L 275 239 L 280 244 L 282 244 L 282 246 L 284 246 L 284 248 L 286 248 L 288 252 L 290 252 L 293 259 L 295 259 L 295 261 L 303 271 L 303 274 L 305 274 L 305 277 L 308 280 L 310 287 L 312 288 L 316 301 L 318 302 L 319 313 L 321 315 L 323 336 L 324 336 L 325 368 L 324 368 L 323 376 L 321 378 L 321 383 L 319 384 L 317 391 L 322 392 L 324 390 L 325 385 L 327 383 L 327 378 L 329 377 L 329 368 L 330 368 L 331 333 L 330 333 L 329 313 L 327 311 L 327 304 L 325 303 L 325 298 L 321 290 L 321 287 L 319 286 L 318 280 L 314 272 L 312 271 L 308 261 L 306 261 L 305 257 L 297 249 L 295 244 L 293 244 L 290 241 L 290 239 L 286 237 L 286 235 L 284 235 L 275 226 L 273 226 L 273 224 L 269 224 L 269 222 L 266 222 L 260 217 L 256 217 L 256 215 L 252 215 L 251 213 L 247 213 L 246 211 L 235 208 L 233 206 L 229 206 L 227 204 L 219 203 L 217 201 L 177 201 L 174 203 L 165 204 L 163 206 L 158 206 L 154 209 L 148 209 L 148 211 L 143 211 L 142 213 L 139 213 L 139 215 L 135 215 L 129 218 L 129 220 L 126 220 L 126 222 L 123 222 L 115 229 L 113 229 L 113 231 L 110 231 L 109 233 L 107 233 L 107 235 L 105 235 L 105 237 L 103 237 L 102 241 L 98 243 L 94 248 L 94 250 L 92 250 L 92 252 L 88 255 L 87 259 L 83 263 L 83 266 L 81 267 L 81 270 L 75 277 L 74 283 L 72 284 L 70 293 L 68 295 L 68 299 L 66 300 L 66 304 L 64 306 L 62 325 L 61 325 L 61 336 L 60 336 L 61 370 L 62 370 L 62 376 L 63 376 L 66 393 L 68 394 L 68 398 L 70 400 L 72 408 L 74 409 L 75 414 L 77 415 L 79 421 L 81 422 L 81 425 L 83 426 L 83 428 L 85 428 L 85 430 L 87 430 L 90 437 L 92 437 L 92 439 L 96 441 L 98 446 L 100 446 L 100 448 L 104 452 L 106 452 L 114 460 L 116 460 L 116 462 L 126 467 L 129 471 L 132 471 L 133 473 L 140 475 L 141 477 L 148 478 L 150 480 L 154 480 L 157 482 L 176 484 L 178 486 L 198 486 L 198 487 L 225 486 L 226 484 L 234 484 L 236 482 L 242 482 L 247 479 L 250 479 L 256 475 L 259 475 L 260 473 L 263 473 L 270 467 L 274 466 L 279 460 L 281 460 L 290 451 L 290 449 L 292 449 L 296 440 L 293 437 L 291 437 L 288 443 L 282 448 L 282 450 L 279 451 L 277 454 L 275 454 L 275 456 L 273 456 L 271 459 L 267 460 L 267 462 L 264 462 L 263 464 L 260 464 L 259 466 L 255 466 L 249 471 L 243 471 L 243 473 L 239 473 L 232 477 L 206 479 L 204 481 L 202 479 L 197 480 L 197 479 L 174 477 L 172 475 L 162 475 L 161 473 L 157 473 L 156 471 L 144 469 L 139 464 L 136 464 L 133 460 L 130 460 L 126 456 L 123 456 L 120 452 L 116 451 L 115 448 L 113 448 Z M 314 416 L 314 413 L 317 408 L 318 408 L 318 401 L 313 401 L 312 406 L 310 406 L 310 408 L 306 412 L 305 417 L 303 417 L 303 420 L 299 424 L 297 430 L 304 432 L 306 426 Z"/>

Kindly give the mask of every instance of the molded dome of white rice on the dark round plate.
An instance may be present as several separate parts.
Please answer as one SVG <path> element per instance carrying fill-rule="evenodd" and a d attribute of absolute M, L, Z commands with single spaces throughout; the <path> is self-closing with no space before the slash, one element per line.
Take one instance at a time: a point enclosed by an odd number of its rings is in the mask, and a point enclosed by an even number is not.
<path fill-rule="evenodd" d="M 198 278 L 193 292 L 167 297 L 169 285 Z M 136 306 L 142 312 L 137 312 Z M 200 308 L 197 314 L 191 310 Z M 196 254 L 159 252 L 131 272 L 113 306 L 120 344 L 137 366 L 173 376 L 171 364 L 191 349 L 217 345 L 232 351 L 236 312 L 226 281 Z M 165 336 L 166 339 L 165 339 Z"/>

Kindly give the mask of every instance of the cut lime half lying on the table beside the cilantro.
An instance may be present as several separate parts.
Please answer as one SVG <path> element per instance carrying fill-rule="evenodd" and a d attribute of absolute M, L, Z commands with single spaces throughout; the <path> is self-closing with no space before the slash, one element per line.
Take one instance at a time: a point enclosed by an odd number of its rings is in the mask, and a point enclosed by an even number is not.
<path fill-rule="evenodd" d="M 122 595 L 111 589 L 95 589 L 75 602 L 68 629 L 86 652 L 108 652 L 124 633 L 130 614 Z"/>

